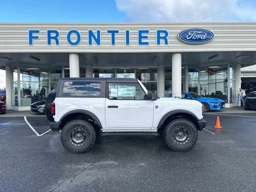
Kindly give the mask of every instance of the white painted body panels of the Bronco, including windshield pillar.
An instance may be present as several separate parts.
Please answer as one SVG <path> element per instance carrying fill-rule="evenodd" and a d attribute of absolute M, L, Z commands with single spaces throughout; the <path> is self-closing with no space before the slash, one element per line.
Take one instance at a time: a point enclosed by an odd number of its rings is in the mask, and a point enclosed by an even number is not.
<path fill-rule="evenodd" d="M 138 81 L 144 91 L 148 91 Z M 55 98 L 54 121 L 72 110 L 92 112 L 102 125 L 102 132 L 156 132 L 162 117 L 173 110 L 186 110 L 202 119 L 202 104 L 196 100 L 160 98 L 157 100 L 109 100 L 108 98 Z M 118 108 L 108 108 L 108 106 Z"/>

